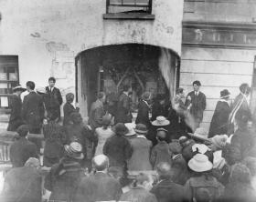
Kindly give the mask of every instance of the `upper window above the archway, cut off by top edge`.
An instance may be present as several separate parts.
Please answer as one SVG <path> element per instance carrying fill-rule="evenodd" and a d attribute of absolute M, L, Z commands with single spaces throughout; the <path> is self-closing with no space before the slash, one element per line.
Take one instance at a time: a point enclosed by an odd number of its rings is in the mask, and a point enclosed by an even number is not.
<path fill-rule="evenodd" d="M 107 14 L 145 13 L 151 14 L 152 0 L 107 0 Z"/>

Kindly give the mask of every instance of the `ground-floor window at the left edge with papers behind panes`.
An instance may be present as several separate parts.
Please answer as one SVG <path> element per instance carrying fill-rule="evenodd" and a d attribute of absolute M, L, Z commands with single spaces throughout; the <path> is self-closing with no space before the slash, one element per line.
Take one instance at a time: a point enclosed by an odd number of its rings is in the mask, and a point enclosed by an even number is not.
<path fill-rule="evenodd" d="M 0 56 L 0 111 L 9 111 L 12 88 L 19 83 L 18 56 Z"/>

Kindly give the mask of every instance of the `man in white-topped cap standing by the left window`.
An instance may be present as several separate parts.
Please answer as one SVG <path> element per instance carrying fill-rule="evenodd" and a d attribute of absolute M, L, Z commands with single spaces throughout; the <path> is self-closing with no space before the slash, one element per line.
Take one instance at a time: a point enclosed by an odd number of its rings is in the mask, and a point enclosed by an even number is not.
<path fill-rule="evenodd" d="M 11 116 L 9 118 L 7 131 L 16 131 L 16 128 L 23 124 L 21 118 L 22 101 L 20 95 L 24 91 L 26 91 L 26 88 L 20 85 L 13 88 L 13 96 L 11 96 L 10 99 Z"/>

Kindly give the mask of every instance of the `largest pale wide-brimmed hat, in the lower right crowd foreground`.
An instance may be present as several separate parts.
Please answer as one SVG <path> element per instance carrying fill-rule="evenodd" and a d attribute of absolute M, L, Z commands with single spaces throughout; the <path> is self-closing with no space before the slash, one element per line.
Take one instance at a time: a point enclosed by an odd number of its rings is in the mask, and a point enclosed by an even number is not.
<path fill-rule="evenodd" d="M 195 155 L 188 161 L 187 166 L 195 172 L 205 172 L 211 170 L 213 165 L 208 160 L 208 157 L 202 154 Z"/>

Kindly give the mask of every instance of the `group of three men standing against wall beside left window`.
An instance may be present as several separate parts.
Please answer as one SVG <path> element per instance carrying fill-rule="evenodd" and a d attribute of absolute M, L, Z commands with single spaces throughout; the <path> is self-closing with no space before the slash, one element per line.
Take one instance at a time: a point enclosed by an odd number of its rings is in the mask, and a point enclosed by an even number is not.
<path fill-rule="evenodd" d="M 59 119 L 63 100 L 55 83 L 56 79 L 50 77 L 48 86 L 45 88 L 36 90 L 33 81 L 27 81 L 26 88 L 16 86 L 13 89 L 14 95 L 11 97 L 12 111 L 7 130 L 16 131 L 18 126 L 26 124 L 29 126 L 30 133 L 39 134 L 44 118 L 54 116 L 55 119 Z M 24 96 L 23 101 L 21 96 Z"/>

